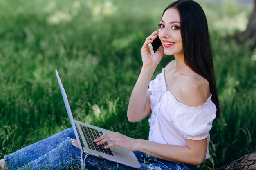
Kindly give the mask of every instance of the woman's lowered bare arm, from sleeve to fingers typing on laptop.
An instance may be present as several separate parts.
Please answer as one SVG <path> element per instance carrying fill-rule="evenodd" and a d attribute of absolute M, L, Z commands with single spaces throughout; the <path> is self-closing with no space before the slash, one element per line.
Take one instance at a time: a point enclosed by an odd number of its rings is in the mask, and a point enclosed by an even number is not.
<path fill-rule="evenodd" d="M 167 161 L 199 165 L 204 162 L 207 151 L 207 138 L 203 140 L 186 139 L 186 146 L 159 144 L 153 141 L 132 139 L 119 132 L 107 133 L 95 139 L 98 145 L 112 141 L 104 148 L 119 146 L 130 151 L 140 151 Z"/>

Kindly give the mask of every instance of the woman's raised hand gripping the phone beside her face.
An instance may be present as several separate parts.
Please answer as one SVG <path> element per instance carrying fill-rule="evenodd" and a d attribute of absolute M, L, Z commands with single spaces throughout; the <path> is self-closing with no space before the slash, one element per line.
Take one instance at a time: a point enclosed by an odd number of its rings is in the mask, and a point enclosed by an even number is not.
<path fill-rule="evenodd" d="M 153 32 L 149 37 L 147 37 L 145 43 L 141 48 L 143 66 L 156 68 L 160 61 L 162 60 L 162 57 L 164 55 L 163 46 L 161 46 L 160 51 L 157 50 L 154 55 L 151 55 L 150 50 L 148 48 L 148 44 L 152 43 L 153 40 L 155 40 L 158 31 L 159 30 Z"/>

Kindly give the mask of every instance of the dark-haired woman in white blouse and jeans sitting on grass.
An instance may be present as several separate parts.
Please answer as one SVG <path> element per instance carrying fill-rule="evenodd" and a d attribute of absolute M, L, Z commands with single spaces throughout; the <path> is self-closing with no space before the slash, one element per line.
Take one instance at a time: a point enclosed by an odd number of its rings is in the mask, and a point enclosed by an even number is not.
<path fill-rule="evenodd" d="M 151 55 L 148 44 L 157 34 L 162 46 Z M 164 54 L 174 55 L 175 60 L 150 82 Z M 130 97 L 127 117 L 137 122 L 152 112 L 148 120 L 149 140 L 114 132 L 94 142 L 100 145 L 112 141 L 106 148 L 120 146 L 135 151 L 142 169 L 196 170 L 210 157 L 209 131 L 219 115 L 207 20 L 200 5 L 192 0 L 170 4 L 163 12 L 159 30 L 146 38 L 141 56 L 143 66 Z M 40 153 L 35 151 L 38 146 Z M 22 168 L 49 169 L 69 168 L 72 163 L 79 166 L 81 151 L 76 146 L 74 132 L 68 129 L 6 155 L 5 163 L 11 169 L 18 164 Z M 86 158 L 85 165 L 88 169 L 133 169 L 93 156 Z"/>

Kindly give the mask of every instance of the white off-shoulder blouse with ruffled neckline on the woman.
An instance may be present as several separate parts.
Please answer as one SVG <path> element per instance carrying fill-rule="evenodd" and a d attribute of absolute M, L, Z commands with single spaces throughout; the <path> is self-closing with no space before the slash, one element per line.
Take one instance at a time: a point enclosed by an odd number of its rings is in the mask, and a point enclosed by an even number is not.
<path fill-rule="evenodd" d="M 162 144 L 186 146 L 186 139 L 207 138 L 205 159 L 209 159 L 209 131 L 216 117 L 216 106 L 211 101 L 211 95 L 198 107 L 189 107 L 178 102 L 170 91 L 166 91 L 164 68 L 162 73 L 150 81 L 148 91 L 152 92 L 148 139 Z"/>

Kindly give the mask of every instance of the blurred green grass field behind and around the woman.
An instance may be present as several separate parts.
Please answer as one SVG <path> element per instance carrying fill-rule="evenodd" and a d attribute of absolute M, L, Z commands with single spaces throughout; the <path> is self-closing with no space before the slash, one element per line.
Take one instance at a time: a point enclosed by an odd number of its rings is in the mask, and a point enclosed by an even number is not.
<path fill-rule="evenodd" d="M 70 128 L 55 69 L 74 118 L 148 139 L 147 119 L 129 123 L 126 110 L 155 31 L 162 0 L 0 0 L 0 159 Z M 197 1 L 204 9 L 221 105 L 213 122 L 213 170 L 256 146 L 256 50 L 232 36 L 246 28 L 252 7 L 234 0 Z M 173 57 L 164 56 L 155 75 Z"/>

